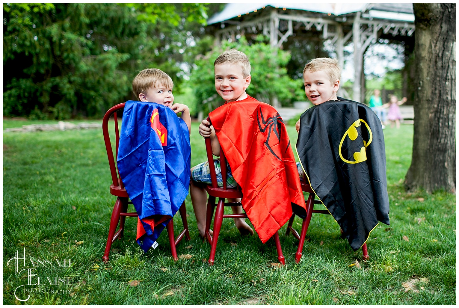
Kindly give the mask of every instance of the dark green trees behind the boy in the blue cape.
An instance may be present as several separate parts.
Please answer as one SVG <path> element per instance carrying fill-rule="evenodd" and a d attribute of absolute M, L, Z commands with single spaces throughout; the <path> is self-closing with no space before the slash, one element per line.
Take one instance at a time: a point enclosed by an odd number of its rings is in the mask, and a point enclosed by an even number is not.
<path fill-rule="evenodd" d="M 157 67 L 178 86 L 176 63 L 196 44 L 204 4 L 3 5 L 6 116 L 101 116 L 133 99 L 137 71 Z"/>

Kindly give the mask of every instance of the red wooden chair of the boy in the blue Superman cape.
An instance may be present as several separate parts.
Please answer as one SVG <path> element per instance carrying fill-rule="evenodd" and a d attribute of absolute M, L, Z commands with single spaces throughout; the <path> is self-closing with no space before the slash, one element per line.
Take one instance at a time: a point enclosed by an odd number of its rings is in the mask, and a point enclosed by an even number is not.
<path fill-rule="evenodd" d="M 119 144 L 119 128 L 118 128 L 118 117 L 117 112 L 124 108 L 124 103 L 118 104 L 110 108 L 103 120 L 102 120 L 102 132 L 104 135 L 105 147 L 108 156 L 108 164 L 110 165 L 110 173 L 112 174 L 112 185 L 110 185 L 110 193 L 113 196 L 117 196 L 117 200 L 115 202 L 115 206 L 113 207 L 112 218 L 110 219 L 110 228 L 108 230 L 108 239 L 107 244 L 105 247 L 105 253 L 102 259 L 104 262 L 108 261 L 108 255 L 110 254 L 110 248 L 112 247 L 112 243 L 117 239 L 123 237 L 124 233 L 124 221 L 126 216 L 129 217 L 138 217 L 137 213 L 128 213 L 128 205 L 132 204 L 129 201 L 129 196 L 126 190 L 124 189 L 123 181 L 118 173 L 118 167 L 116 165 L 116 157 L 118 156 L 118 144 Z M 115 130 L 115 145 L 116 145 L 116 154 L 113 155 L 112 150 L 112 143 L 110 141 L 109 135 L 109 119 L 112 117 L 115 120 L 114 130 Z M 186 208 L 185 202 L 183 202 L 182 206 L 179 209 L 180 216 L 182 217 L 183 228 L 184 230 L 177 236 L 177 239 L 174 238 L 174 222 L 173 219 L 169 221 L 166 225 L 166 229 L 168 231 L 169 236 L 169 243 L 171 246 L 172 257 L 174 260 L 178 260 L 177 257 L 177 250 L 175 246 L 182 240 L 183 236 L 186 236 L 187 240 L 190 240 L 190 233 L 188 231 L 188 224 L 186 221 Z M 119 222 L 119 229 L 117 232 L 117 226 Z"/>

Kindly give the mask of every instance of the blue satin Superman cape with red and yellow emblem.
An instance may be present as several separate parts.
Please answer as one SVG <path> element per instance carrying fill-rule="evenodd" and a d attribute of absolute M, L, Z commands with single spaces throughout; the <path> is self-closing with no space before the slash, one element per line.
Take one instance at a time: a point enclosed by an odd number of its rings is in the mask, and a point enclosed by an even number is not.
<path fill-rule="evenodd" d="M 145 252 L 188 195 L 190 158 L 188 127 L 172 109 L 157 103 L 126 102 L 117 164 L 145 230 L 137 238 Z"/>

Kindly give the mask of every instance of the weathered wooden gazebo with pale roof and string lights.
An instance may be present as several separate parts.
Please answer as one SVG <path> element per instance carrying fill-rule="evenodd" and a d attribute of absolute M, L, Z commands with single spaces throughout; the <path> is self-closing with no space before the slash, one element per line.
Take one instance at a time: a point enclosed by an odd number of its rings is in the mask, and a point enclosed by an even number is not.
<path fill-rule="evenodd" d="M 320 36 L 344 64 L 344 47 L 353 44 L 353 99 L 364 101 L 364 52 L 377 39 L 403 41 L 414 33 L 411 3 L 228 3 L 207 21 L 218 41 L 264 34 L 279 48 L 291 36 Z"/>

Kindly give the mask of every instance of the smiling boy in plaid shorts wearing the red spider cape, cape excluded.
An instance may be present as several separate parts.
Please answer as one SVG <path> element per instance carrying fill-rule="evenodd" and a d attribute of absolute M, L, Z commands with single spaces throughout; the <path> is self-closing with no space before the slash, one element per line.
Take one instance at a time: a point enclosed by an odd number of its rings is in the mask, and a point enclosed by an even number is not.
<path fill-rule="evenodd" d="M 226 102 L 242 101 L 249 97 L 246 94 L 246 89 L 250 84 L 252 76 L 250 75 L 250 62 L 247 56 L 238 50 L 228 50 L 222 53 L 214 62 L 215 72 L 215 90 Z M 203 137 L 210 137 L 212 143 L 213 155 L 220 156 L 220 144 L 215 135 L 213 127 L 206 125 L 210 123 L 204 119 L 199 125 L 199 134 Z M 220 161 L 214 160 L 214 165 L 217 171 L 220 170 Z M 237 183 L 231 175 L 229 164 L 228 170 L 228 186 L 235 188 Z M 199 229 L 199 234 L 204 237 L 206 228 L 206 206 L 207 192 L 204 189 L 204 184 L 210 184 L 210 171 L 208 162 L 202 162 L 191 168 L 192 180 L 190 183 L 191 203 L 196 215 L 196 222 Z M 217 180 L 222 181 L 221 172 L 217 174 Z M 239 200 L 228 200 L 235 202 Z M 242 213 L 242 207 L 232 207 L 233 213 Z M 235 225 L 243 235 L 253 235 L 252 228 L 246 223 L 243 218 L 234 218 Z"/>

